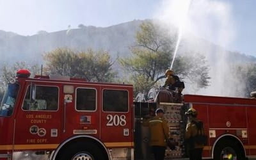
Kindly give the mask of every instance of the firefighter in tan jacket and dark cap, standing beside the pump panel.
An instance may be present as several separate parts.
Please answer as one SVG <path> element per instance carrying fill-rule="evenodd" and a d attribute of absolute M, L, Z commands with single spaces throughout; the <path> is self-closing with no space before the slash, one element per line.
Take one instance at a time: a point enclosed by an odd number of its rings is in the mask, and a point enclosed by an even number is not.
<path fill-rule="evenodd" d="M 143 120 L 143 125 L 149 127 L 150 146 L 155 160 L 163 160 L 166 150 L 165 139 L 169 138 L 167 121 L 163 117 L 164 111 L 161 108 L 156 109 L 156 116 L 148 120 Z"/>

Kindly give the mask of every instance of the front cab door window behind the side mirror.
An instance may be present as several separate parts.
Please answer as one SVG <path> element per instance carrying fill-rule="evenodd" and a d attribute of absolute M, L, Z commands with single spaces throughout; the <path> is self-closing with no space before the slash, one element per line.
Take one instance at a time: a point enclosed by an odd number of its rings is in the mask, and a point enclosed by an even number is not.
<path fill-rule="evenodd" d="M 30 100 L 30 86 L 27 89 L 22 109 L 56 111 L 58 109 L 59 89 L 56 86 L 36 86 L 35 100 Z"/>

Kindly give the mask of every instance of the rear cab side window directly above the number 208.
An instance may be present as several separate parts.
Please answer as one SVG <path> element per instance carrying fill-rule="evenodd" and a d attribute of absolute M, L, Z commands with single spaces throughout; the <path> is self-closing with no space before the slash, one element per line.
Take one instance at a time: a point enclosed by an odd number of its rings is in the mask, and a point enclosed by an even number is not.
<path fill-rule="evenodd" d="M 103 111 L 127 112 L 128 92 L 126 90 L 103 90 Z"/>

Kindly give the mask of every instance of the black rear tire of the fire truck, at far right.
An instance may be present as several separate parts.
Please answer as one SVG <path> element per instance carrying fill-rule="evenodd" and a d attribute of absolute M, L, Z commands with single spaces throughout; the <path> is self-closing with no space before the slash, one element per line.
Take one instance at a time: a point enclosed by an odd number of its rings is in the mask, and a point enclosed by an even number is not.
<path fill-rule="evenodd" d="M 236 159 L 245 159 L 244 150 L 236 140 L 221 140 L 214 147 L 213 159 L 223 160 L 225 155 L 232 154 L 232 157 L 236 156 Z"/>

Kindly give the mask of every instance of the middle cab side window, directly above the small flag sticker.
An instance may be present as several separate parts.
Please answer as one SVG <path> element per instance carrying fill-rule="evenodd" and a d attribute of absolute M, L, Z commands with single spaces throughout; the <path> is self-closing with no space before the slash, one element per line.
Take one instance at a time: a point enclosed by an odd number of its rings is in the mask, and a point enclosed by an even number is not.
<path fill-rule="evenodd" d="M 91 88 L 77 88 L 76 109 L 77 111 L 95 111 L 96 90 Z"/>

